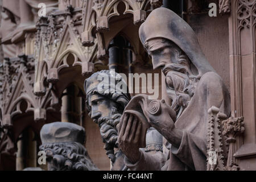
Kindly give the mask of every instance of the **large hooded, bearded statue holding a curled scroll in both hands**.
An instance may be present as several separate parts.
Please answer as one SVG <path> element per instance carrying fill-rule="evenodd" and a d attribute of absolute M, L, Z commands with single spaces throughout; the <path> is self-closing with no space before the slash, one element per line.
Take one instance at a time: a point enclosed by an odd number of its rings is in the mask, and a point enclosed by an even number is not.
<path fill-rule="evenodd" d="M 138 95 L 126 106 L 119 147 L 131 170 L 206 170 L 208 109 L 230 115 L 230 96 L 201 51 L 195 32 L 173 11 L 160 7 L 139 28 L 139 37 L 154 69 L 162 69 L 172 105 Z M 154 127 L 170 149 L 147 154 L 145 131 Z"/>

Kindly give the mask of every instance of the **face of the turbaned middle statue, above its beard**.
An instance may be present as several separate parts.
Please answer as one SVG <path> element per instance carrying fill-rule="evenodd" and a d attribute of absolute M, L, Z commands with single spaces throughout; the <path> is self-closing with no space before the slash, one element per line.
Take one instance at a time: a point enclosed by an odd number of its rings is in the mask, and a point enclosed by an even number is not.
<path fill-rule="evenodd" d="M 99 118 L 110 118 L 113 107 L 118 108 L 116 102 L 110 100 L 108 97 L 101 96 L 100 94 L 93 94 L 89 96 L 88 101 L 92 109 L 90 117 L 93 119 L 93 122 L 96 123 Z"/>

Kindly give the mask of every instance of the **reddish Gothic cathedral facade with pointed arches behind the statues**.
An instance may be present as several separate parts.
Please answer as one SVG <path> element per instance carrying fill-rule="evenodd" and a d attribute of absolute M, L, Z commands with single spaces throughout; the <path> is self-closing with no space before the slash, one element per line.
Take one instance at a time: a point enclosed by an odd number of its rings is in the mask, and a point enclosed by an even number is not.
<path fill-rule="evenodd" d="M 127 77 L 153 73 L 159 75 L 158 99 L 171 104 L 166 76 L 154 69 L 139 37 L 142 23 L 159 7 L 172 10 L 195 31 L 206 59 L 228 89 L 230 114 L 222 117 L 213 107 L 208 111 L 209 123 L 223 126 L 220 135 L 228 147 L 224 166 L 256 170 L 255 0 L 0 2 L 0 170 L 47 170 L 47 164 L 39 163 L 40 130 L 52 122 L 84 127 L 84 147 L 92 162 L 100 170 L 113 168 L 109 148 L 86 109 L 84 83 L 102 70 Z M 214 7 L 216 15 L 211 14 Z M 164 16 L 155 18 L 162 22 Z M 151 94 L 142 83 L 137 86 L 131 98 Z"/>

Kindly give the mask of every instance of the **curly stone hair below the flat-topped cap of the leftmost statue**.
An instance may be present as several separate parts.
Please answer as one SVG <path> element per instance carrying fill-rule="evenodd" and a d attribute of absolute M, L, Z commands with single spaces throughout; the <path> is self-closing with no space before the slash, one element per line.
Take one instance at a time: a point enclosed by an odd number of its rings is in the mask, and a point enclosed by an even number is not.
<path fill-rule="evenodd" d="M 52 160 L 51 171 L 98 171 L 88 152 L 82 144 L 77 142 L 59 142 L 42 144 L 40 150 L 46 152 L 46 160 Z"/>

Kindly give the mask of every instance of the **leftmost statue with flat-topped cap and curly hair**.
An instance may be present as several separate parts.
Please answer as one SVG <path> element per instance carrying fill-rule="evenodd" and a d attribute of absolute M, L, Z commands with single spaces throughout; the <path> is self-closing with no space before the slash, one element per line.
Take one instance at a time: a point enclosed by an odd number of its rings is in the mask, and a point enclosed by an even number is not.
<path fill-rule="evenodd" d="M 46 124 L 40 131 L 49 171 L 97 171 L 84 147 L 85 130 L 68 122 Z"/>

